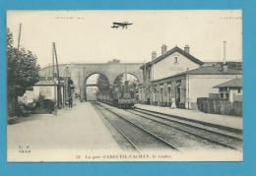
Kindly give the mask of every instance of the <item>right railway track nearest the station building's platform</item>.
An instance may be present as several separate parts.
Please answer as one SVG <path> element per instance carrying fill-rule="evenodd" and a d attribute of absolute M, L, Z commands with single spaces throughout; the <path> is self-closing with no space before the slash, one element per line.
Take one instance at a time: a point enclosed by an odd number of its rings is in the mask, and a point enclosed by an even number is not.
<path fill-rule="evenodd" d="M 192 122 L 177 120 L 175 118 L 171 118 L 169 116 L 159 115 L 157 113 L 141 111 L 141 110 L 126 110 L 127 112 L 137 115 L 138 117 L 152 120 L 159 124 L 168 126 L 170 128 L 175 128 L 181 132 L 185 132 L 187 134 L 193 135 L 197 138 L 206 140 L 215 145 L 219 145 L 222 147 L 230 148 L 230 149 L 242 149 L 242 139 L 239 137 L 240 135 L 225 132 L 223 130 L 213 128 L 213 127 L 203 127 L 201 124 L 196 124 Z"/>

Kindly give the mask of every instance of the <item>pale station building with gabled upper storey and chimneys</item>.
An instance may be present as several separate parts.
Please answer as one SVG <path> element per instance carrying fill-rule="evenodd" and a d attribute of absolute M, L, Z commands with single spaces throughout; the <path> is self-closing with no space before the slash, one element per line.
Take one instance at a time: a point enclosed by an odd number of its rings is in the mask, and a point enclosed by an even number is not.
<path fill-rule="evenodd" d="M 139 87 L 139 102 L 159 106 L 197 109 L 197 98 L 218 93 L 219 84 L 241 78 L 241 70 L 205 65 L 190 54 L 188 45 L 167 51 L 161 46 L 161 55 L 152 53 L 152 61 L 141 66 L 143 84 Z"/>

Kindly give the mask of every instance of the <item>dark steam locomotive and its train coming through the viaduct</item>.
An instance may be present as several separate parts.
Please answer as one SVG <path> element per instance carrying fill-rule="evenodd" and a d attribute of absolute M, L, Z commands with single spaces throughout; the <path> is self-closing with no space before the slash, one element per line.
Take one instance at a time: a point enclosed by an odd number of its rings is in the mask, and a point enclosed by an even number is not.
<path fill-rule="evenodd" d="M 111 88 L 108 91 L 98 91 L 96 98 L 100 102 L 108 103 L 123 109 L 134 107 L 134 92 L 129 90 L 127 86 Z"/>

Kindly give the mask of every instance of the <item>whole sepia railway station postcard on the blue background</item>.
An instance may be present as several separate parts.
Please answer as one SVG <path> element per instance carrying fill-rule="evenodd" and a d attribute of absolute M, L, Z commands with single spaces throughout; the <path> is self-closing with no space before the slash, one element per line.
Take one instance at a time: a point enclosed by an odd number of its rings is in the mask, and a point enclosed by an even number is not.
<path fill-rule="evenodd" d="M 243 161 L 241 10 L 8 10 L 7 161 Z"/>

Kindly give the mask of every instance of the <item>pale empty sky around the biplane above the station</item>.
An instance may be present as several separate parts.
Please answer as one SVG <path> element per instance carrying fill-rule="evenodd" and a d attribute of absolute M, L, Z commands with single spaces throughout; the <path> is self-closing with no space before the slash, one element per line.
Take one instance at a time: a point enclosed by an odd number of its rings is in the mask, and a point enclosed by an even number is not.
<path fill-rule="evenodd" d="M 111 29 L 113 22 L 133 23 L 128 29 Z M 190 46 L 202 61 L 242 60 L 242 13 L 223 11 L 8 11 L 7 28 L 17 46 L 32 50 L 41 67 L 52 60 L 52 42 L 58 61 L 68 63 L 122 63 L 151 60 L 160 46 Z"/>

